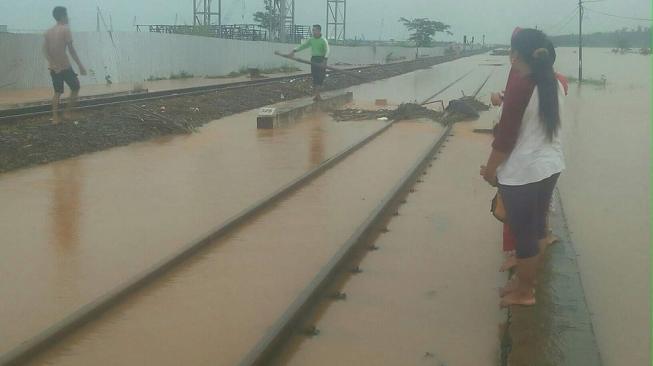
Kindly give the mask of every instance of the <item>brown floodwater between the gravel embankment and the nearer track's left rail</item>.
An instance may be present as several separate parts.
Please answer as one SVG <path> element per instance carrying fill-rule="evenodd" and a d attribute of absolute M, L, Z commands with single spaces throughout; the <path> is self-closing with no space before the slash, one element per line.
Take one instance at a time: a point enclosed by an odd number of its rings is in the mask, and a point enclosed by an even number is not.
<path fill-rule="evenodd" d="M 376 131 L 256 112 L 0 175 L 0 353 Z"/>

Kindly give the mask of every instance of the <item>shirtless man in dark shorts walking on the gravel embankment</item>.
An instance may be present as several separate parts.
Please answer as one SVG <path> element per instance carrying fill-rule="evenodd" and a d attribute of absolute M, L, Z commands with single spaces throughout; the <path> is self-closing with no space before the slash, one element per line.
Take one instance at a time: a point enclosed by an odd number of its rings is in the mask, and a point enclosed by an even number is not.
<path fill-rule="evenodd" d="M 54 97 L 52 98 L 52 122 L 57 124 L 61 122 L 59 118 L 59 100 L 63 94 L 63 83 L 65 82 L 70 88 L 70 101 L 66 106 L 64 118 L 71 118 L 71 109 L 77 103 L 79 95 L 79 79 L 73 71 L 68 60 L 68 54 L 75 60 L 79 67 L 79 73 L 86 75 L 86 69 L 77 56 L 77 51 L 73 47 L 73 37 L 68 27 L 68 12 L 63 6 L 57 6 L 52 10 L 52 16 L 57 24 L 45 33 L 45 42 L 43 52 L 48 59 L 48 69 L 52 77 L 52 86 L 54 87 Z"/>

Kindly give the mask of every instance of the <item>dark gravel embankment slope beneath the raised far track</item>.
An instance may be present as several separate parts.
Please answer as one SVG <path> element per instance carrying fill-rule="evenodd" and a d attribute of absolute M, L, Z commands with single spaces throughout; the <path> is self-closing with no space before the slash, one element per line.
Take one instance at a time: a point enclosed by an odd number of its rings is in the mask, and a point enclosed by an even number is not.
<path fill-rule="evenodd" d="M 383 65 L 360 71 L 360 79 L 331 74 L 326 90 L 385 79 L 442 63 L 443 58 Z M 49 115 L 0 123 L 0 173 L 154 137 L 189 133 L 209 121 L 311 93 L 310 78 L 206 94 L 85 109 L 52 125 Z"/>

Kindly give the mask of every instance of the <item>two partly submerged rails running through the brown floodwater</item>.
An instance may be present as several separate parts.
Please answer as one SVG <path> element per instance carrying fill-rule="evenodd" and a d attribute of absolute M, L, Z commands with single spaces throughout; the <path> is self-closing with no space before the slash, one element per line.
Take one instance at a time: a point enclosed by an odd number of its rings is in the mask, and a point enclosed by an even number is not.
<path fill-rule="evenodd" d="M 461 80 L 458 78 L 457 80 Z M 457 81 L 456 81 L 457 82 Z M 443 89 L 439 90 L 435 95 L 439 95 L 453 86 L 456 82 L 450 83 Z M 42 330 L 34 337 L 21 343 L 16 348 L 0 355 L 0 365 L 17 365 L 26 362 L 40 352 L 46 350 L 50 346 L 56 344 L 61 338 L 71 334 L 78 328 L 93 321 L 104 312 L 111 309 L 113 306 L 119 304 L 129 295 L 146 287 L 148 284 L 157 280 L 176 266 L 191 258 L 194 254 L 198 253 L 204 248 L 214 244 L 216 240 L 225 237 L 237 228 L 241 227 L 249 219 L 261 214 L 265 209 L 281 202 L 284 198 L 305 186 L 328 169 L 334 167 L 336 164 L 350 156 L 363 146 L 374 140 L 376 137 L 387 131 L 395 122 L 391 121 L 386 123 L 382 128 L 372 133 L 371 135 L 359 140 L 358 142 L 350 145 L 344 151 L 337 155 L 328 158 L 319 166 L 313 168 L 301 177 L 286 184 L 279 190 L 270 194 L 266 198 L 254 203 L 247 209 L 241 211 L 237 215 L 228 219 L 227 221 L 216 226 L 214 229 L 199 236 L 196 240 L 185 244 L 180 250 L 172 255 L 162 259 L 153 266 L 142 271 L 140 274 L 132 277 L 125 283 L 117 286 L 116 288 L 106 292 L 96 300 L 80 307 L 72 312 L 62 320 L 54 323 L 48 328 Z M 274 353 L 276 347 L 283 342 L 288 336 L 289 330 L 296 324 L 298 319 L 307 311 L 310 303 L 316 299 L 320 289 L 328 284 L 329 279 L 337 273 L 342 264 L 349 258 L 353 249 L 356 248 L 360 240 L 369 235 L 373 231 L 373 227 L 381 222 L 385 217 L 387 210 L 398 202 L 398 197 L 405 193 L 410 185 L 414 183 L 419 174 L 428 164 L 428 158 L 437 152 L 442 145 L 446 136 L 449 134 L 451 126 L 448 126 L 443 134 L 430 146 L 429 150 L 422 156 L 418 163 L 410 170 L 410 173 L 402 178 L 401 182 L 386 196 L 379 204 L 370 218 L 356 231 L 351 239 L 345 243 L 342 249 L 338 252 L 327 266 L 325 266 L 315 279 L 311 282 L 309 287 L 300 295 L 291 308 L 284 314 L 279 323 L 273 328 L 273 331 L 266 334 L 259 344 L 250 352 L 242 364 L 262 364 L 261 360 L 267 359 Z"/>

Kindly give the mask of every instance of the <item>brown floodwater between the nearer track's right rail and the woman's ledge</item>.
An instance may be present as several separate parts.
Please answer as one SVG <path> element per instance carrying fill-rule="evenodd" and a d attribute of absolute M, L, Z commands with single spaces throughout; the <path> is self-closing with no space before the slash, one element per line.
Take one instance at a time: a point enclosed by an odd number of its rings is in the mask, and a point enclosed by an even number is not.
<path fill-rule="evenodd" d="M 489 114 L 483 118 L 491 118 Z M 343 286 L 316 337 L 295 337 L 279 364 L 493 365 L 499 359 L 502 255 L 478 176 L 491 139 L 460 123 L 416 192 Z M 467 168 L 465 168 L 467 167 Z"/>

